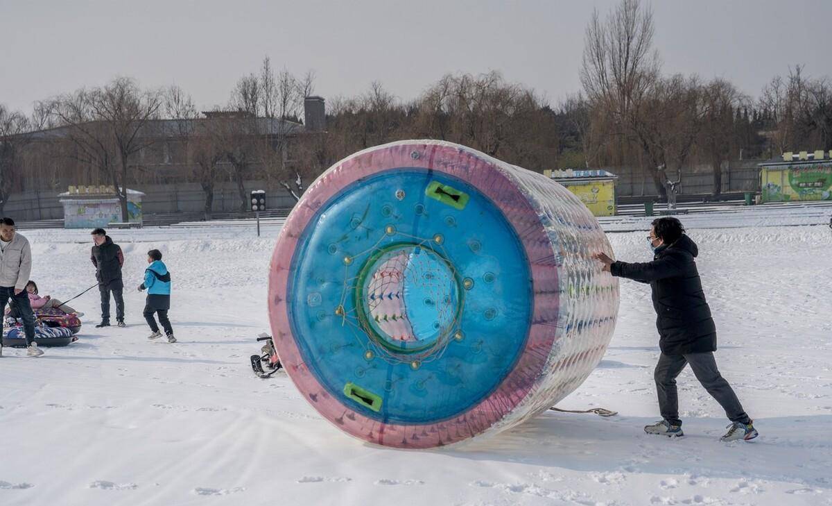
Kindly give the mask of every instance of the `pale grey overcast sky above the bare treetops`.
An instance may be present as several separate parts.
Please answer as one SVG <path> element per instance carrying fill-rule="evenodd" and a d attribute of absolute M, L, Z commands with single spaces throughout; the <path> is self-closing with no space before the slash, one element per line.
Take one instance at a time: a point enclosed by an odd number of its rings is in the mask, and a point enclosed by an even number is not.
<path fill-rule="evenodd" d="M 381 82 L 418 96 L 448 72 L 498 70 L 558 102 L 580 87 L 583 34 L 609 0 L 354 2 L 0 0 L 0 103 L 32 102 L 116 75 L 176 83 L 202 109 L 224 105 L 236 80 L 274 67 L 316 74 L 323 97 Z M 756 96 L 805 65 L 832 77 L 832 0 L 653 2 L 665 72 L 725 77 Z"/>

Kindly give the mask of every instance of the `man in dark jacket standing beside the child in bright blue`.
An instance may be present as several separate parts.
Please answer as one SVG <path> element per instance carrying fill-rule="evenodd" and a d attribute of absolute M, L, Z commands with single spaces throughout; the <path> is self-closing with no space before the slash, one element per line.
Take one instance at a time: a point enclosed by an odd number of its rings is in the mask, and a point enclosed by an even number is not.
<path fill-rule="evenodd" d="M 121 281 L 121 266 L 124 265 L 124 255 L 121 246 L 115 244 L 102 228 L 92 231 L 92 265 L 96 266 L 98 290 L 102 295 L 102 322 L 96 328 L 110 326 L 110 294 L 116 300 L 116 322 L 118 326 L 124 324 L 124 283 Z"/>

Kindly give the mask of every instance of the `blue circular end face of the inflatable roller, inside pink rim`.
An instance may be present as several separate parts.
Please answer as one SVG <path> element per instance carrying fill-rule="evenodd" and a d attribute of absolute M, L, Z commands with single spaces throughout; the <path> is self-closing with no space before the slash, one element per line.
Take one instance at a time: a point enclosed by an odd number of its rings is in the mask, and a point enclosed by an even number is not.
<path fill-rule="evenodd" d="M 303 232 L 289 317 L 329 394 L 382 422 L 452 418 L 512 370 L 530 325 L 528 260 L 473 186 L 422 169 L 344 188 Z"/>

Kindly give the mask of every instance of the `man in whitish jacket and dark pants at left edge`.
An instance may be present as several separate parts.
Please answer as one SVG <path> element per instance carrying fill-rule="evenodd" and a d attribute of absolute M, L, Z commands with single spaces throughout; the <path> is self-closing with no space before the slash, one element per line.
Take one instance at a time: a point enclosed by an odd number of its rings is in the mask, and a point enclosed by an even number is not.
<path fill-rule="evenodd" d="M 27 355 L 37 357 L 43 351 L 35 342 L 35 315 L 29 304 L 26 284 L 32 273 L 32 249 L 26 237 L 17 233 L 12 218 L 0 218 L 0 315 L 10 303 L 23 320 L 26 334 Z M 2 318 L 0 318 L 2 332 Z M 2 356 L 2 340 L 0 340 Z"/>

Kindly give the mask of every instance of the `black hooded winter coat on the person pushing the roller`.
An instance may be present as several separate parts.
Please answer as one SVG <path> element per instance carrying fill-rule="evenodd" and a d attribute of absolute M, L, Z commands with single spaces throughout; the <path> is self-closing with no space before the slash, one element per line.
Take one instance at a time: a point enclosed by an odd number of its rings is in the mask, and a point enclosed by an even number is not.
<path fill-rule="evenodd" d="M 670 246 L 656 248 L 651 262 L 610 265 L 612 275 L 650 283 L 659 347 L 665 355 L 716 351 L 716 325 L 693 260 L 698 254 L 696 244 L 683 235 Z"/>

